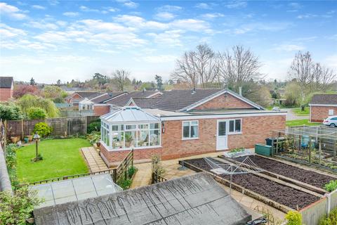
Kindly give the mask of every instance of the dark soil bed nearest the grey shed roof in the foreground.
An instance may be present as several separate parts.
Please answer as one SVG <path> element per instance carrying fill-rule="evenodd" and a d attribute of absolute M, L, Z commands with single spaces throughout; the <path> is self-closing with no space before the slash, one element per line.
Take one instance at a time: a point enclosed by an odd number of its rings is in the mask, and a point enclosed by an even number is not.
<path fill-rule="evenodd" d="M 185 160 L 194 167 L 204 169 L 208 172 L 212 169 L 203 158 Z M 223 179 L 230 180 L 230 175 L 218 175 Z M 236 174 L 232 176 L 232 182 L 254 193 L 264 196 L 279 204 L 290 207 L 293 210 L 302 209 L 319 200 L 319 197 L 298 191 L 295 188 L 278 184 L 270 179 L 257 176 L 255 174 Z"/>

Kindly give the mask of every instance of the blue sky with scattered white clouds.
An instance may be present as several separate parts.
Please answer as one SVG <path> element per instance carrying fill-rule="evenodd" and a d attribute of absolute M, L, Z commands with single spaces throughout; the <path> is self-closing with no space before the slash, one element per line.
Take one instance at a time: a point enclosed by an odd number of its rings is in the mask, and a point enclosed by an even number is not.
<path fill-rule="evenodd" d="M 184 51 L 239 44 L 266 79 L 298 51 L 337 71 L 337 1 L 0 1 L 0 75 L 84 81 L 116 69 L 170 78 Z"/>

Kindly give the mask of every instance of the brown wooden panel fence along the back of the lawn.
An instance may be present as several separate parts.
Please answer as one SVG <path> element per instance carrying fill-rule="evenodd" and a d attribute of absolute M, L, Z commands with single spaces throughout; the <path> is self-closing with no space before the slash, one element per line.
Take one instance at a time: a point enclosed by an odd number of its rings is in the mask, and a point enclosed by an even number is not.
<path fill-rule="evenodd" d="M 48 118 L 45 120 L 8 120 L 6 122 L 6 136 L 8 139 L 11 136 L 20 136 L 23 139 L 27 135 L 32 135 L 34 126 L 38 122 L 46 122 L 48 126 L 53 127 L 51 136 L 86 134 L 88 124 L 97 119 L 98 116 Z"/>

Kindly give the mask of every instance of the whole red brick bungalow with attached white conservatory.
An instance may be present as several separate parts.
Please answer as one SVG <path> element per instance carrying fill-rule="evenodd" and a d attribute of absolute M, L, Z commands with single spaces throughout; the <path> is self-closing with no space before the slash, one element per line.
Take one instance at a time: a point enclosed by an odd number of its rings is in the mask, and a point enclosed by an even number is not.
<path fill-rule="evenodd" d="M 227 89 L 176 89 L 153 98 L 130 98 L 101 116 L 100 154 L 117 165 L 134 149 L 135 160 L 163 160 L 252 148 L 272 130 L 285 129 L 286 113 L 267 111 Z"/>

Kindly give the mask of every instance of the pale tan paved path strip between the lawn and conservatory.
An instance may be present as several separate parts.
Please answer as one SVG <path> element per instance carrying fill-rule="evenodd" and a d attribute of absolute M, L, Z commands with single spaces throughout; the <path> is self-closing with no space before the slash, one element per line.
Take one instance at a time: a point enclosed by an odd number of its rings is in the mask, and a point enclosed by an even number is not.
<path fill-rule="evenodd" d="M 86 159 L 90 172 L 99 172 L 102 170 L 109 169 L 105 162 L 100 158 L 98 152 L 93 147 L 81 148 L 81 152 Z"/>

